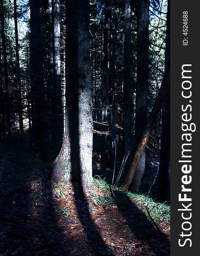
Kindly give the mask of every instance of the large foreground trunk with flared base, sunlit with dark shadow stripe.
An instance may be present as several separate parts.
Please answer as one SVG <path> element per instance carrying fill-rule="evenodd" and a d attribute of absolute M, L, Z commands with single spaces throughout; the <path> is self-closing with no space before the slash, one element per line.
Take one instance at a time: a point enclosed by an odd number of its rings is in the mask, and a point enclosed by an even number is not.
<path fill-rule="evenodd" d="M 66 131 L 52 179 L 92 181 L 89 0 L 66 1 Z"/>

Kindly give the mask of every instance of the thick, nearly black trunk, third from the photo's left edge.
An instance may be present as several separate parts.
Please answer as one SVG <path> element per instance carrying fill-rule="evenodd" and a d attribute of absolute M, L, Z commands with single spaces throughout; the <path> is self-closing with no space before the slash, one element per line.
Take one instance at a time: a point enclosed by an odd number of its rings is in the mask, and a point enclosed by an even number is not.
<path fill-rule="evenodd" d="M 30 0 L 31 38 L 31 112 L 32 131 L 34 133 L 34 150 L 45 151 L 45 88 L 43 79 L 43 55 L 41 47 L 41 14 L 37 0 Z"/>

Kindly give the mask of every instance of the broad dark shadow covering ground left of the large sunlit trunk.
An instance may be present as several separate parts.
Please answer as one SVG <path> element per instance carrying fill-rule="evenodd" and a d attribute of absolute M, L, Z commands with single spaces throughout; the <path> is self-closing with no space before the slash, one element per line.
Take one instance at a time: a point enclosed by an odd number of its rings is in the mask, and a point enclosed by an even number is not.
<path fill-rule="evenodd" d="M 44 166 L 25 151 L 1 146 L 0 255 L 67 255 Z"/>

